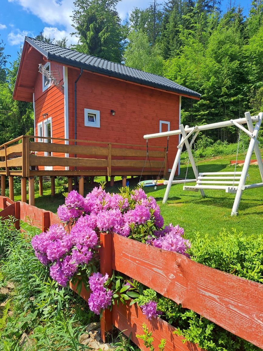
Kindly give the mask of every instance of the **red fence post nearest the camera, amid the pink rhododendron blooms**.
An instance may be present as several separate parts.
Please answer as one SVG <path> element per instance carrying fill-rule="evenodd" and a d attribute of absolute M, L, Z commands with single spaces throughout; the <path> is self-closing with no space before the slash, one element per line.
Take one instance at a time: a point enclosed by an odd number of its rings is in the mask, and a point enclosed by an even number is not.
<path fill-rule="evenodd" d="M 112 276 L 112 234 L 100 233 L 100 272 Z M 106 309 L 100 320 L 101 338 L 106 342 L 107 333 L 112 330 L 112 311 Z"/>

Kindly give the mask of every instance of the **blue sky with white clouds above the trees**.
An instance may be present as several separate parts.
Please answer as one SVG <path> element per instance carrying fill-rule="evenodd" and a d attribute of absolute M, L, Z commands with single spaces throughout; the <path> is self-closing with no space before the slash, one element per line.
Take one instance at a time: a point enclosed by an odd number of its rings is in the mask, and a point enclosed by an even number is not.
<path fill-rule="evenodd" d="M 55 39 L 68 37 L 69 42 L 75 44 L 76 38 L 70 37 L 73 31 L 70 15 L 72 14 L 74 0 L 1 0 L 0 12 L 0 39 L 4 40 L 5 53 L 11 55 L 13 61 L 20 46 L 23 44 L 25 35 L 35 37 L 44 31 L 45 35 Z M 223 0 L 222 10 L 231 1 L 231 4 L 241 4 L 244 14 L 247 14 L 250 1 L 247 0 Z M 151 0 L 122 0 L 117 5 L 117 10 L 122 19 L 135 7 L 145 8 Z M 163 1 L 160 0 L 159 3 Z"/>

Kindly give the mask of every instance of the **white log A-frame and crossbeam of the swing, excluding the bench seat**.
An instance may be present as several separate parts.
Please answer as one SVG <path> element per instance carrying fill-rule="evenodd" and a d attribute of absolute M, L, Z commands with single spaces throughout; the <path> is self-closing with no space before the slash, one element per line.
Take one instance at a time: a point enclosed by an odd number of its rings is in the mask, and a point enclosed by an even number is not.
<path fill-rule="evenodd" d="M 182 135 L 182 140 L 179 143 L 179 145 L 177 146 L 178 150 L 176 153 L 176 157 L 174 160 L 174 164 L 173 164 L 173 168 L 171 170 L 169 180 L 168 180 L 168 182 L 166 182 L 167 188 L 166 188 L 166 192 L 164 194 L 163 204 L 165 204 L 167 199 L 168 199 L 171 185 L 177 184 L 179 182 L 183 183 L 183 181 L 178 181 L 178 182 L 176 181 L 176 183 L 175 183 L 175 181 L 173 180 L 176 168 L 177 168 L 178 163 L 180 161 L 180 156 L 181 156 L 181 152 L 183 149 L 183 145 L 186 146 L 186 149 L 187 149 L 187 152 L 189 155 L 189 159 L 190 159 L 190 162 L 191 162 L 191 165 L 193 167 L 194 174 L 195 174 L 195 178 L 196 178 L 195 180 L 196 180 L 196 182 L 198 182 L 198 171 L 197 171 L 197 167 L 196 167 L 196 164 L 194 161 L 193 154 L 191 152 L 191 146 L 193 145 L 194 140 L 197 137 L 197 134 L 200 131 L 222 128 L 222 127 L 229 127 L 229 126 L 232 126 L 234 124 L 235 126 L 240 128 L 242 131 L 244 131 L 250 137 L 250 143 L 249 143 L 247 155 L 245 157 L 243 170 L 241 172 L 240 177 L 238 177 L 239 178 L 238 179 L 238 186 L 236 186 L 234 189 L 234 184 L 233 184 L 232 191 L 230 191 L 230 192 L 236 193 L 234 204 L 232 207 L 231 216 L 237 216 L 238 206 L 240 204 L 240 200 L 241 200 L 243 191 L 247 190 L 247 189 L 252 189 L 252 188 L 263 186 L 263 162 L 262 162 L 262 156 L 261 156 L 261 152 L 260 152 L 259 147 L 258 147 L 258 140 L 257 140 L 258 131 L 259 131 L 259 128 L 261 126 L 262 119 L 263 119 L 262 112 L 260 112 L 258 114 L 258 116 L 252 116 L 252 117 L 250 115 L 250 112 L 245 112 L 245 118 L 239 118 L 239 119 L 235 119 L 235 120 L 231 119 L 229 121 L 211 123 L 211 124 L 206 124 L 206 125 L 202 125 L 202 126 L 195 126 L 195 127 L 191 127 L 191 128 L 189 128 L 189 126 L 184 127 L 183 125 L 180 125 L 179 130 L 144 135 L 144 137 L 143 137 L 144 139 L 160 138 L 160 137 L 167 137 L 170 135 L 179 135 L 179 134 Z M 253 122 L 256 122 L 255 127 L 253 126 Z M 248 130 L 242 126 L 243 124 L 247 124 Z M 191 142 L 189 143 L 189 141 L 188 141 L 189 137 L 193 133 L 195 133 L 194 137 L 191 140 Z M 247 175 L 248 175 L 248 168 L 250 165 L 250 160 L 251 160 L 251 156 L 252 156 L 253 151 L 255 151 L 255 154 L 256 154 L 256 159 L 257 159 L 259 171 L 261 174 L 262 183 L 245 185 L 245 181 L 246 181 Z M 234 174 L 234 178 L 235 178 L 235 174 Z M 216 181 L 215 181 L 215 183 L 216 183 Z M 218 187 L 218 186 L 214 186 L 214 188 L 216 188 L 216 187 Z M 202 197 L 204 197 L 205 194 L 204 194 L 203 189 L 205 189 L 205 188 L 213 188 L 213 186 L 199 185 L 196 187 L 192 187 L 192 189 L 190 189 L 190 187 L 188 187 L 188 190 L 200 191 Z M 226 192 L 229 192 L 230 186 L 220 186 L 220 187 L 218 187 L 218 189 L 219 188 L 222 190 L 225 190 Z M 187 187 L 186 187 L 186 189 L 187 189 Z"/>

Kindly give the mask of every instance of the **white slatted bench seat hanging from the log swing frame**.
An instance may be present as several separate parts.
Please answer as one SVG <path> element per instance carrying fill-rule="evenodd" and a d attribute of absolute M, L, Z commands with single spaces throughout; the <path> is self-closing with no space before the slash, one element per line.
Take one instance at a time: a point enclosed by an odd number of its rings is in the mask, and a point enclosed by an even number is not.
<path fill-rule="evenodd" d="M 183 186 L 183 190 L 199 191 L 200 189 L 224 190 L 236 193 L 242 172 L 204 172 L 199 173 L 194 186 Z"/>

